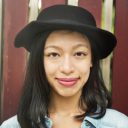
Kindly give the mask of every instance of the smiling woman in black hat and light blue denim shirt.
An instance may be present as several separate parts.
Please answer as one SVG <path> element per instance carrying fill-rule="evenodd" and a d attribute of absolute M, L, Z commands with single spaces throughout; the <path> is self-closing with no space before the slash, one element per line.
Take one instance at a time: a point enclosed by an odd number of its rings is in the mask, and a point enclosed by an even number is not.
<path fill-rule="evenodd" d="M 55 5 L 44 9 L 15 39 L 30 52 L 17 116 L 1 128 L 128 128 L 111 107 L 99 61 L 116 38 L 96 27 L 87 10 Z"/>

